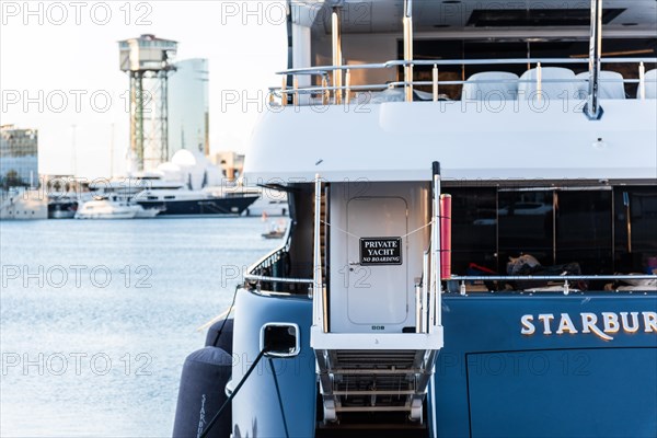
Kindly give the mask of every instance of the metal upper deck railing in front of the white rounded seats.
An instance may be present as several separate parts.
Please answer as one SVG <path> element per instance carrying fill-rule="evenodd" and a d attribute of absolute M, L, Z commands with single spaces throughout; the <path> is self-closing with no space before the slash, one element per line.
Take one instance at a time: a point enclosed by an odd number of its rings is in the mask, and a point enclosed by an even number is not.
<path fill-rule="evenodd" d="M 544 66 L 586 66 L 588 65 L 588 58 L 512 58 L 512 59 L 439 59 L 439 60 L 391 60 L 381 64 L 364 64 L 364 65 L 347 65 L 347 66 L 321 66 L 321 67 L 308 67 L 299 69 L 289 69 L 277 72 L 283 77 L 283 84 L 278 88 L 270 89 L 270 103 L 279 104 L 283 106 L 292 103 L 293 105 L 308 105 L 308 104 L 339 104 L 350 103 L 354 93 L 358 92 L 377 92 L 396 88 L 415 88 L 425 87 L 430 88 L 433 101 L 443 100 L 445 96 L 440 94 L 440 87 L 445 85 L 463 85 L 469 83 L 469 80 L 439 80 L 440 67 L 452 66 L 452 67 L 464 67 L 464 66 L 489 66 L 491 71 L 503 71 L 497 66 L 518 66 L 523 65 L 528 67 L 528 71 L 534 67 L 535 74 L 532 79 L 515 79 L 515 80 L 476 80 L 477 83 L 533 83 L 537 90 L 540 92 L 543 84 L 549 83 L 572 83 L 576 88 L 588 83 L 587 78 L 570 78 L 570 79 L 543 79 L 542 69 Z M 646 84 L 655 87 L 657 79 L 655 78 L 654 70 L 646 76 L 646 65 L 657 64 L 657 58 L 645 57 L 645 58 L 602 58 L 602 65 L 627 65 L 633 66 L 631 70 L 636 71 L 636 78 L 623 78 L 619 79 L 606 79 L 601 78 L 600 83 L 604 84 L 608 82 L 622 82 L 626 84 L 637 84 L 637 99 L 646 99 Z M 351 74 L 354 71 L 361 70 L 388 70 L 399 69 L 408 66 L 413 67 L 431 67 L 431 80 L 412 80 L 412 81 L 390 81 L 387 83 L 354 83 Z M 629 67 L 630 68 L 630 67 Z M 330 80 L 335 74 L 341 77 L 339 84 L 331 84 Z M 312 85 L 299 87 L 300 78 L 312 78 Z M 344 78 L 343 78 L 344 77 Z M 289 84 L 291 83 L 291 87 Z M 310 96 L 311 99 L 301 99 L 301 96 Z M 344 97 L 344 99 L 343 99 Z M 578 96 L 567 96 L 568 99 Z M 585 95 L 579 97 L 586 99 Z M 408 101 L 408 94 L 405 100 Z M 291 102 L 290 102 L 291 101 Z"/>

